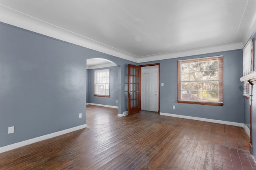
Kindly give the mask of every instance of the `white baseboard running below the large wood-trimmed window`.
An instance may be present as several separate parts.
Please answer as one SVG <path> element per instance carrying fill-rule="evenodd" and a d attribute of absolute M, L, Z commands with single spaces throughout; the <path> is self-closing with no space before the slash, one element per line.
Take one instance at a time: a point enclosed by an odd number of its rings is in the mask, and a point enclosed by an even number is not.
<path fill-rule="evenodd" d="M 179 117 L 179 118 L 184 118 L 184 119 L 192 119 L 192 120 L 198 120 L 198 121 L 207 121 L 207 122 L 219 123 L 219 124 L 224 124 L 224 125 L 232 125 L 232 126 L 244 127 L 244 123 L 237 123 L 237 122 L 231 122 L 231 121 L 206 119 L 206 118 L 201 118 L 201 117 L 176 115 L 176 114 L 170 114 L 170 113 L 160 113 L 160 115 L 171 116 L 171 117 Z"/>

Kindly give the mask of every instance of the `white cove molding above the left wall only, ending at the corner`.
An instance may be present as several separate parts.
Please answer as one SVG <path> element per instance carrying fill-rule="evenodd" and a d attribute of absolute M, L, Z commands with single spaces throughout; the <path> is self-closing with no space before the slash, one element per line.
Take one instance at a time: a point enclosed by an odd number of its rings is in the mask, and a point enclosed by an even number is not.
<path fill-rule="evenodd" d="M 88 49 L 100 51 L 105 54 L 113 55 L 122 59 L 137 62 L 137 58 L 134 55 L 125 53 L 108 45 L 93 41 L 71 31 L 62 29 L 50 23 L 38 20 L 26 14 L 22 14 L 10 8 L 0 5 L 0 21 L 33 31 L 42 35 L 46 35 L 52 38 L 56 38 L 68 43 L 80 45 Z"/>

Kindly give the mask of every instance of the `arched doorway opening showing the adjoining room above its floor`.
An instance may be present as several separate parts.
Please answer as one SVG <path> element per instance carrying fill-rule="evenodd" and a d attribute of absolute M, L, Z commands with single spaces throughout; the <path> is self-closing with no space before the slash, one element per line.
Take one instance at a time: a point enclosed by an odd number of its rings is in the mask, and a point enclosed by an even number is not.
<path fill-rule="evenodd" d="M 113 61 L 101 58 L 87 59 L 86 63 L 86 104 L 120 109 L 120 103 L 118 103 L 120 66 Z M 98 74 L 102 76 L 102 74 L 106 74 L 107 70 L 109 74 L 109 82 L 104 79 L 100 80 L 101 82 L 96 83 L 95 75 Z M 103 90 L 104 93 L 102 93 Z M 109 90 L 109 94 L 105 93 L 105 90 Z M 97 95 L 96 93 L 99 91 L 100 95 Z"/>

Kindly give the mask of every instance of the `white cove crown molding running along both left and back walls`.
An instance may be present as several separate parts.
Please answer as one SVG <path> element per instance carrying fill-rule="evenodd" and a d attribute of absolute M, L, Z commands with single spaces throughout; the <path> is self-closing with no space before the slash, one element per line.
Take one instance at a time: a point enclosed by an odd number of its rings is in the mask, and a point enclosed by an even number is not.
<path fill-rule="evenodd" d="M 230 42 L 195 49 L 174 51 L 170 53 L 156 54 L 145 57 L 137 57 L 2 5 L 0 5 L 0 21 L 3 23 L 14 25 L 16 27 L 20 27 L 22 29 L 59 39 L 61 41 L 66 41 L 68 43 L 80 45 L 82 47 L 106 53 L 108 55 L 133 61 L 135 63 L 158 61 L 177 57 L 186 57 L 243 48 L 243 43 Z"/>

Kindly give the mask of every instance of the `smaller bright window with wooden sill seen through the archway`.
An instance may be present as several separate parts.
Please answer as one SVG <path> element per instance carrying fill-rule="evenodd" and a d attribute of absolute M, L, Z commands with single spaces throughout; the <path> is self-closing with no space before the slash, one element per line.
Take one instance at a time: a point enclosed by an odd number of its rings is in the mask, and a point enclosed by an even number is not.
<path fill-rule="evenodd" d="M 94 96 L 110 97 L 110 70 L 94 70 Z"/>

